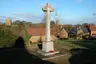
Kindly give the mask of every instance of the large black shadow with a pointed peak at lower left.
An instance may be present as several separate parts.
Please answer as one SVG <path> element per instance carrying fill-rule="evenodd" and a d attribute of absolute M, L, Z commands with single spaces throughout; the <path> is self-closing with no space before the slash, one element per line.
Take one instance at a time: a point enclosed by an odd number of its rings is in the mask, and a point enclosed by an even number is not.
<path fill-rule="evenodd" d="M 39 57 L 29 54 L 24 47 L 24 40 L 18 37 L 15 45 L 10 48 L 0 49 L 1 64 L 55 64 L 49 61 L 44 61 Z"/>

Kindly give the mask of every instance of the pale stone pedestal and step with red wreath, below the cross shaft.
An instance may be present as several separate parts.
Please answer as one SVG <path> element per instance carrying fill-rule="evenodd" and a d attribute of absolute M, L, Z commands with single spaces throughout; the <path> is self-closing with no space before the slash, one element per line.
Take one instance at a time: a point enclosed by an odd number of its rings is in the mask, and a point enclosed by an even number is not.
<path fill-rule="evenodd" d="M 40 53 L 43 56 L 52 56 L 58 54 L 59 51 L 54 51 L 54 44 L 52 41 L 44 41 L 42 50 L 38 50 L 38 53 Z"/>

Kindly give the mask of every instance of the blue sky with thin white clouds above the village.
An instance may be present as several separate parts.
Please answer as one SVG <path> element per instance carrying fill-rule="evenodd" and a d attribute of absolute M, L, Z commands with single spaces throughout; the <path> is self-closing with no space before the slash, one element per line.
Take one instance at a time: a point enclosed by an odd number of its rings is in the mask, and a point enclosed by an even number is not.
<path fill-rule="evenodd" d="M 95 23 L 96 0 L 0 0 L 0 22 L 7 17 L 12 21 L 26 20 L 41 22 L 44 17 L 42 7 L 49 2 L 61 24 Z"/>

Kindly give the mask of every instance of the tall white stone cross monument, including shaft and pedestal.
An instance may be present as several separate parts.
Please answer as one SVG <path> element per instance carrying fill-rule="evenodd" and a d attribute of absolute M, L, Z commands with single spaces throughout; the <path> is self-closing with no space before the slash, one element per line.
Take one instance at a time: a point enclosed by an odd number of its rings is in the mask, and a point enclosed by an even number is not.
<path fill-rule="evenodd" d="M 53 41 L 50 40 L 50 12 L 53 12 L 54 9 L 49 5 L 49 3 L 47 3 L 42 10 L 46 14 L 46 39 L 43 42 L 42 51 L 44 53 L 42 52 L 42 54 L 48 56 L 59 53 L 54 51 Z"/>

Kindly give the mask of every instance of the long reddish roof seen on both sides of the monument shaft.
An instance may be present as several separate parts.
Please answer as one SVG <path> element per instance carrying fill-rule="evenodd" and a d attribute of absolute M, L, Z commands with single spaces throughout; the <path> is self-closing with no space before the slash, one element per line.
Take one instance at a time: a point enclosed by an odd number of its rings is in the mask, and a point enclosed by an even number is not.
<path fill-rule="evenodd" d="M 50 28 L 50 32 L 51 34 L 56 34 L 58 32 L 60 32 L 58 30 L 59 28 Z M 65 30 L 65 29 L 64 29 Z M 44 36 L 46 35 L 46 28 L 28 28 L 27 29 L 28 34 L 32 35 L 32 36 Z"/>

